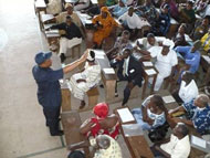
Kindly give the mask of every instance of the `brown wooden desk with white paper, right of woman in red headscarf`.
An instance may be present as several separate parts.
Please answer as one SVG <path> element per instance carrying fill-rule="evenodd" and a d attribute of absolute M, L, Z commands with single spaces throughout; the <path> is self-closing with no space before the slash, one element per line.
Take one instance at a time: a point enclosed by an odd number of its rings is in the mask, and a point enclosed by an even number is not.
<path fill-rule="evenodd" d="M 123 108 L 128 108 L 128 107 L 126 107 L 126 106 L 119 107 L 118 109 L 123 109 Z M 116 110 L 116 114 L 119 116 L 117 110 Z M 119 116 L 119 118 L 120 118 L 120 116 Z M 132 158 L 153 158 L 154 155 L 153 155 L 153 152 L 149 148 L 149 145 L 146 141 L 144 135 L 126 137 L 124 134 L 124 130 L 122 128 L 122 125 L 125 125 L 126 123 L 123 123 L 122 119 L 119 120 L 119 123 L 120 123 L 122 135 L 124 137 L 124 140 L 125 140 L 128 149 L 129 149 Z M 136 120 L 129 122 L 129 124 L 136 124 Z"/>

